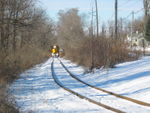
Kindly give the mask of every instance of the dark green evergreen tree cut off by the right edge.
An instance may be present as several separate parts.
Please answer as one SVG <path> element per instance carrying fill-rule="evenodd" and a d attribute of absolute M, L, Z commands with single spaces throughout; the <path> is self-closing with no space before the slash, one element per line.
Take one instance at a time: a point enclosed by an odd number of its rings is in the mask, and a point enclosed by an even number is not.
<path fill-rule="evenodd" d="M 145 28 L 145 39 L 150 41 L 150 16 L 147 19 Z"/>

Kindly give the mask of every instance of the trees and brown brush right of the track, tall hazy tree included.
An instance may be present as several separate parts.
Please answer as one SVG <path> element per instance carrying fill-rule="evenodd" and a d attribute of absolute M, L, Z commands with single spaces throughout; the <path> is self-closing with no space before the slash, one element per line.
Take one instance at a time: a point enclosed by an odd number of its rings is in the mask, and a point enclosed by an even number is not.
<path fill-rule="evenodd" d="M 115 38 L 115 23 L 103 23 L 97 37 L 94 26 L 87 23 L 78 9 L 61 10 L 57 23 L 57 43 L 65 49 L 66 58 L 89 68 L 114 67 L 116 63 L 137 59 L 140 51 L 129 49 L 127 35 L 131 34 L 131 21 L 118 20 L 118 39 Z M 133 22 L 133 32 L 144 31 L 143 17 Z M 129 53 L 135 54 L 131 56 Z"/>

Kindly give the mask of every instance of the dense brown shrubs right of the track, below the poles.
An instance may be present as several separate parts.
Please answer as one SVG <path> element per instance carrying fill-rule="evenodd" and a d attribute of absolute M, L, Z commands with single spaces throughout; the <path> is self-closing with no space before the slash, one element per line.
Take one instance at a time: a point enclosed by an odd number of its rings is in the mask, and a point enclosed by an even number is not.
<path fill-rule="evenodd" d="M 65 51 L 68 59 L 86 67 L 92 66 L 93 51 L 93 67 L 96 68 L 114 67 L 117 63 L 137 59 L 140 55 L 139 51 L 130 51 L 124 41 L 110 38 L 86 38 L 79 47 L 66 48 Z"/>

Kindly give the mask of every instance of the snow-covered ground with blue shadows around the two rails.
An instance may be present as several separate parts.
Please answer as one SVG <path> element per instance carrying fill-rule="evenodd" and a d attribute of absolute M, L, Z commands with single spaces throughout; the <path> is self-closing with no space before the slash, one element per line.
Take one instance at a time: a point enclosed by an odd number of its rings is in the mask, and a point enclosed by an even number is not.
<path fill-rule="evenodd" d="M 96 87 L 150 103 L 150 57 L 116 65 L 108 70 L 84 74 L 84 69 L 69 60 L 61 59 L 68 69 Z M 16 104 L 23 113 L 111 113 L 60 88 L 51 75 L 49 59 L 22 73 L 10 87 Z M 84 96 L 128 113 L 149 113 L 150 107 L 141 106 L 92 89 L 69 76 L 59 60 L 54 60 L 54 71 L 61 83 Z"/>

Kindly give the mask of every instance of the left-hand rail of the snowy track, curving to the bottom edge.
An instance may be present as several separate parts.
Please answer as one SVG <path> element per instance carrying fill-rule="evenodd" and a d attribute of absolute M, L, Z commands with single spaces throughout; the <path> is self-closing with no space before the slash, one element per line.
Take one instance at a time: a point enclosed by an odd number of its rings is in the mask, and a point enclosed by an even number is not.
<path fill-rule="evenodd" d="M 51 72 L 52 72 L 52 77 L 53 77 L 54 81 L 56 82 L 56 84 L 57 84 L 58 86 L 60 86 L 60 87 L 63 88 L 64 90 L 66 90 L 66 91 L 72 93 L 73 95 L 76 95 L 77 97 L 79 97 L 79 98 L 81 98 L 81 99 L 85 99 L 85 100 L 87 100 L 87 101 L 89 101 L 89 102 L 91 102 L 91 103 L 93 103 L 93 104 L 96 104 L 96 105 L 98 105 L 98 106 L 100 106 L 100 107 L 103 107 L 103 108 L 105 108 L 105 109 L 107 109 L 107 110 L 110 110 L 110 111 L 113 111 L 113 112 L 116 112 L 116 113 L 125 113 L 124 111 L 121 111 L 121 110 L 119 110 L 119 109 L 116 109 L 116 108 L 110 107 L 110 106 L 108 106 L 108 105 L 102 104 L 102 103 L 100 103 L 100 102 L 97 102 L 97 101 L 95 101 L 95 100 L 93 100 L 93 99 L 90 99 L 90 98 L 88 98 L 88 97 L 86 97 L 86 96 L 83 96 L 83 95 L 79 94 L 78 92 L 75 92 L 75 91 L 73 91 L 73 90 L 71 90 L 71 89 L 65 87 L 65 86 L 61 83 L 61 81 L 58 80 L 58 78 L 57 78 L 57 76 L 56 76 L 56 74 L 55 74 L 55 71 L 54 71 L 54 66 L 53 66 L 53 64 L 54 64 L 54 60 L 53 60 L 52 63 L 51 63 Z"/>

